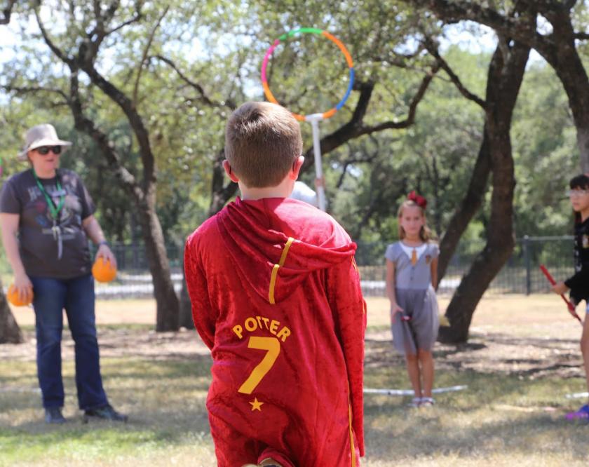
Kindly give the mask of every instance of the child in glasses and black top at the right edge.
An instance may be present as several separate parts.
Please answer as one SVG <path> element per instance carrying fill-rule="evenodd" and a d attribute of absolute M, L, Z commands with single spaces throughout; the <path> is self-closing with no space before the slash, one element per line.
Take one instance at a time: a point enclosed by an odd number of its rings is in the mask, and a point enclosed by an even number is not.
<path fill-rule="evenodd" d="M 557 283 L 553 290 L 559 295 L 570 290 L 571 302 L 578 305 L 585 300 L 589 311 L 589 176 L 577 175 L 571 179 L 569 187 L 569 198 L 575 212 L 575 273 L 564 282 Z M 589 320 L 586 315 L 581 335 L 581 353 L 589 391 Z M 589 405 L 585 404 L 576 412 L 567 414 L 567 419 L 589 419 Z"/>

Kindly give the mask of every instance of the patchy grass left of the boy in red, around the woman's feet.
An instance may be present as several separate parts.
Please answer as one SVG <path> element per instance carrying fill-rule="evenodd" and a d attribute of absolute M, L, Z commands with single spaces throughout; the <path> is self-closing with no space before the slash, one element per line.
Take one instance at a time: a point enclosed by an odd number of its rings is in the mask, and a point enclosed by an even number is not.
<path fill-rule="evenodd" d="M 209 358 L 104 359 L 109 399 L 130 415 L 130 422 L 83 424 L 76 408 L 74 368 L 65 364 L 64 412 L 70 421 L 47 426 L 41 421 L 40 394 L 32 391 L 34 362 L 1 362 L 5 391 L 0 393 L 0 466 L 128 465 L 141 459 L 149 465 L 169 465 L 182 453 L 200 459 L 192 465 L 214 465 L 204 407 L 209 365 Z M 10 388 L 15 391 L 6 391 Z"/>

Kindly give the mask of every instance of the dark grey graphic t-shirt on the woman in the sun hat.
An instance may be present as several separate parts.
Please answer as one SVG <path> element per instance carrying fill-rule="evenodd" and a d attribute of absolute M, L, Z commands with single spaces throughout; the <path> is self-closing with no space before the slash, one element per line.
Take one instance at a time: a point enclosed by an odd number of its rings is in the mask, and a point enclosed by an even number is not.
<path fill-rule="evenodd" d="M 61 191 L 57 190 L 57 177 Z M 39 180 L 55 206 L 60 204 L 62 195 L 65 196 L 55 222 L 60 229 L 61 257 L 58 257 L 53 217 L 32 170 L 10 177 L 0 193 L 0 212 L 20 215 L 20 258 L 29 276 L 68 279 L 88 274 L 92 267 L 82 219 L 94 213 L 94 203 L 72 170 L 59 169 L 57 177 Z"/>

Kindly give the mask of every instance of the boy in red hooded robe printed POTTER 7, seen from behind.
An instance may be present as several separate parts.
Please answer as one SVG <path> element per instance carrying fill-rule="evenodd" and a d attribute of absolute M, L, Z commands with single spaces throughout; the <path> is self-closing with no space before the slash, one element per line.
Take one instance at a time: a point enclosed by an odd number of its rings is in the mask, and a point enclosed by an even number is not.
<path fill-rule="evenodd" d="M 359 466 L 365 302 L 356 244 L 288 198 L 304 158 L 299 123 L 247 102 L 226 126 L 241 190 L 187 241 L 194 324 L 212 353 L 207 409 L 219 467 Z"/>

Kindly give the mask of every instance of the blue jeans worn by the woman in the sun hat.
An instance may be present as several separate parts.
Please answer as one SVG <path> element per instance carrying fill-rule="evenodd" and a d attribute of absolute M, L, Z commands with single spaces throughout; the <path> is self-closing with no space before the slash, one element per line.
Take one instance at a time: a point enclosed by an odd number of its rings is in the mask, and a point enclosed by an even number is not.
<path fill-rule="evenodd" d="M 35 310 L 37 375 L 43 394 L 43 407 L 63 407 L 61 371 L 63 309 L 76 353 L 76 388 L 81 410 L 108 404 L 102 388 L 100 357 L 94 318 L 94 278 L 30 278 Z"/>

